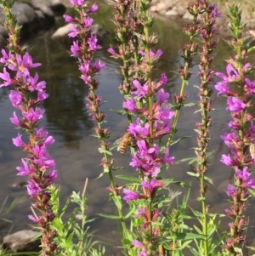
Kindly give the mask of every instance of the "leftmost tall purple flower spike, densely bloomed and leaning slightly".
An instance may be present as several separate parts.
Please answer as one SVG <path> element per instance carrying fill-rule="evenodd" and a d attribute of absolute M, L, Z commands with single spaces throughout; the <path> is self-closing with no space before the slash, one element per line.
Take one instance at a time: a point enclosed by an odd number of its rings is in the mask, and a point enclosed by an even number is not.
<path fill-rule="evenodd" d="M 55 214 L 53 205 L 49 202 L 51 194 L 48 191 L 48 186 L 53 184 L 58 176 L 54 159 L 48 153 L 48 145 L 54 143 L 54 138 L 39 125 L 44 113 L 39 105 L 48 98 L 45 92 L 46 82 L 39 82 L 37 73 L 31 74 L 31 70 L 41 64 L 33 63 L 26 48 L 20 48 L 20 27 L 10 12 L 12 6 L 13 2 L 8 0 L 1 2 L 3 14 L 8 17 L 3 21 L 3 26 L 8 30 L 9 37 L 8 50 L 2 49 L 0 58 L 4 65 L 3 72 L 0 73 L 3 80 L 0 88 L 12 88 L 9 100 L 21 115 L 14 111 L 10 121 L 28 135 L 27 139 L 23 139 L 19 133 L 13 143 L 27 153 L 27 156 L 21 159 L 22 166 L 17 167 L 17 170 L 18 175 L 27 176 L 27 192 L 33 201 L 33 208 L 37 210 L 36 216 L 29 215 L 29 218 L 37 223 L 42 231 L 43 255 L 55 255 L 58 252 L 58 246 L 54 242 L 57 234 L 52 228 Z"/>

